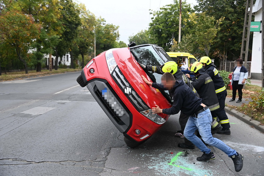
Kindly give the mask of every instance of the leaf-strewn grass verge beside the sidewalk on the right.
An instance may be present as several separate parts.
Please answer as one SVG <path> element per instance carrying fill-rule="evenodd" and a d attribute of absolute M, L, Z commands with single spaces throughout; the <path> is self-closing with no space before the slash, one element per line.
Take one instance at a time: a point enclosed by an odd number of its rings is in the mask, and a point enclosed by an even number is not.
<path fill-rule="evenodd" d="M 243 92 L 243 98 L 251 101 L 253 97 L 259 97 L 261 87 L 260 86 L 255 86 L 255 85 L 250 85 L 246 84 L 245 89 L 242 89 Z M 232 90 L 227 90 L 227 97 L 232 98 Z M 238 95 L 237 97 L 238 98 Z M 227 107 L 231 109 L 235 109 L 238 112 L 241 112 L 252 119 L 259 121 L 261 125 L 264 125 L 264 109 L 263 108 L 253 108 L 251 104 L 242 104 L 241 106 L 232 106 L 226 104 Z"/>

